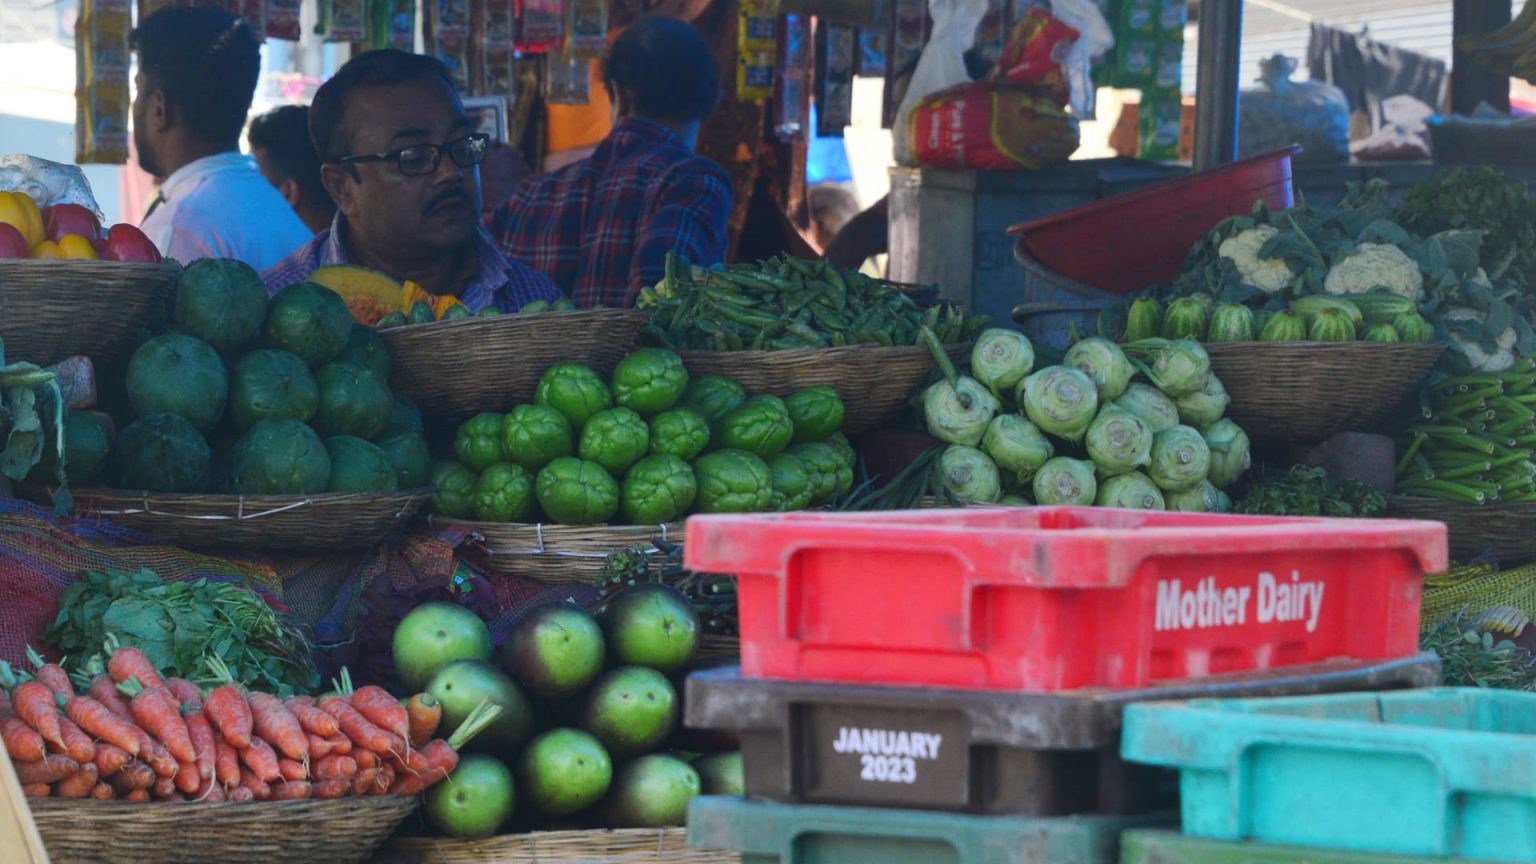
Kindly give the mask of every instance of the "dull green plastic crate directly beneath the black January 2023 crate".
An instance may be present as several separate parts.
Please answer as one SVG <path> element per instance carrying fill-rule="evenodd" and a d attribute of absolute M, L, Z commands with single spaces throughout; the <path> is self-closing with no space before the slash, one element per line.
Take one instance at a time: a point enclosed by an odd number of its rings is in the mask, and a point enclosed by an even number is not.
<path fill-rule="evenodd" d="M 1114 864 L 1120 833 L 1169 816 L 969 816 L 694 798 L 688 846 L 742 864 Z"/>

